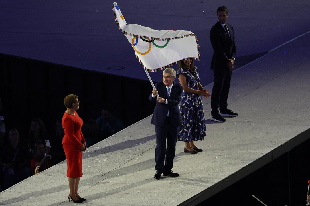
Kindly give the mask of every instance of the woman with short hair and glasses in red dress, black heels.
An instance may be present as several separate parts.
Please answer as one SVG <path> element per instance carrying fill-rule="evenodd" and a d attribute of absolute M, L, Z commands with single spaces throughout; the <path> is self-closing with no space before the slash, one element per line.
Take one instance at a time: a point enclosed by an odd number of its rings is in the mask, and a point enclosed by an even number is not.
<path fill-rule="evenodd" d="M 62 147 L 67 158 L 67 177 L 69 178 L 69 196 L 75 202 L 83 202 L 86 199 L 78 195 L 78 184 L 82 176 L 82 158 L 83 151 L 86 150 L 86 142 L 81 132 L 83 125 L 82 119 L 78 116 L 80 102 L 78 96 L 69 94 L 64 98 L 64 105 L 67 111 L 64 112 L 62 118 L 62 126 L 64 128 L 64 138 L 62 140 Z"/>

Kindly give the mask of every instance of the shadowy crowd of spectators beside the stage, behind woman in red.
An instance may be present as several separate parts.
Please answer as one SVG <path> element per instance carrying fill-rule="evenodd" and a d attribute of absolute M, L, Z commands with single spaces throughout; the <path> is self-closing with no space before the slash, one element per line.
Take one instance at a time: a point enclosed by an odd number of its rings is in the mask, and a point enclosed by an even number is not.
<path fill-rule="evenodd" d="M 105 104 L 96 121 L 91 119 L 84 122 L 82 132 L 87 147 L 90 147 L 122 129 L 124 124 L 113 116 L 112 106 Z M 63 137 L 61 120 L 56 121 L 54 132 L 47 131 L 40 118 L 33 118 L 29 122 L 28 134 L 20 134 L 15 128 L 6 128 L 0 99 L 0 192 L 65 160 Z"/>

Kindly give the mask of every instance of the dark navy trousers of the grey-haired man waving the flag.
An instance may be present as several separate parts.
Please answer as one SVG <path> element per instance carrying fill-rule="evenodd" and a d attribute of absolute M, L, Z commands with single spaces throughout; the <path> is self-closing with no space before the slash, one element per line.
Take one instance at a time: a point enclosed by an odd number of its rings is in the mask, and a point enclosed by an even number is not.
<path fill-rule="evenodd" d="M 173 158 L 175 157 L 175 145 L 178 138 L 178 132 L 178 127 L 174 127 L 168 117 L 162 126 L 155 126 L 155 169 L 159 173 L 170 171 L 173 167 Z"/>

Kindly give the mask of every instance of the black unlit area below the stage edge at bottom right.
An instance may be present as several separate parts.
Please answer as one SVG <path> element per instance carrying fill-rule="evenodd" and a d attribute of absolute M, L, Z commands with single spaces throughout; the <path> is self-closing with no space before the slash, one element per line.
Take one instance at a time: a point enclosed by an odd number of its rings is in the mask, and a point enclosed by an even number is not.
<path fill-rule="evenodd" d="M 268 206 L 305 205 L 310 179 L 309 144 L 310 137 L 197 206 L 262 206 L 252 195 Z"/>

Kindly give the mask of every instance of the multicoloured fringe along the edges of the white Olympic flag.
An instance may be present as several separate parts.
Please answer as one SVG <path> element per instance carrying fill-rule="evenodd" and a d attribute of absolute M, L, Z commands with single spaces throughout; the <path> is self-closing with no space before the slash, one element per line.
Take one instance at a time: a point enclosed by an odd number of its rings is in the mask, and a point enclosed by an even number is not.
<path fill-rule="evenodd" d="M 116 6 L 115 7 L 116 10 L 119 10 L 119 7 Z M 195 39 L 196 39 L 196 43 L 197 43 L 197 50 L 198 50 L 198 58 L 195 58 L 195 57 L 188 57 L 188 58 L 192 58 L 194 60 L 197 60 L 199 61 L 200 60 L 200 52 L 199 52 L 199 44 L 198 44 L 198 39 L 197 39 L 197 36 L 194 34 L 194 33 L 190 33 L 190 34 L 187 34 L 187 35 L 184 35 L 184 36 L 180 36 L 180 37 L 173 37 L 173 38 L 156 38 L 156 37 L 147 37 L 147 36 L 141 36 L 141 35 L 137 35 L 137 34 L 132 34 L 132 33 L 128 33 L 128 32 L 125 32 L 124 30 L 122 30 L 122 28 L 120 27 L 118 21 L 117 21 L 117 17 L 116 17 L 116 12 L 114 10 L 114 4 L 113 4 L 113 7 L 112 7 L 112 10 L 113 10 L 113 14 L 114 14 L 114 17 L 115 17 L 115 23 L 117 24 L 117 28 L 125 35 L 127 36 L 131 36 L 131 37 L 136 37 L 136 38 L 141 38 L 141 39 L 148 39 L 148 40 L 156 40 L 156 41 L 170 41 L 170 40 L 175 40 L 175 39 L 180 39 L 180 38 L 185 38 L 185 37 L 192 37 L 192 36 L 195 36 Z M 122 20 L 124 20 L 124 17 L 123 15 L 120 16 L 122 18 Z M 153 44 L 156 46 L 156 44 L 153 42 Z M 157 46 L 158 47 L 158 46 Z M 160 71 L 160 70 L 164 70 L 165 68 L 168 68 L 174 64 L 177 64 L 179 61 L 183 60 L 183 59 L 179 59 L 178 61 L 176 62 L 173 62 L 173 63 L 170 63 L 170 64 L 167 64 L 163 67 L 160 67 L 160 68 L 156 68 L 156 69 L 148 69 L 144 66 L 144 64 L 141 62 L 140 58 L 135 55 L 136 58 L 138 59 L 139 63 L 143 66 L 143 68 L 145 70 L 147 70 L 148 72 L 157 72 L 157 71 Z"/>

